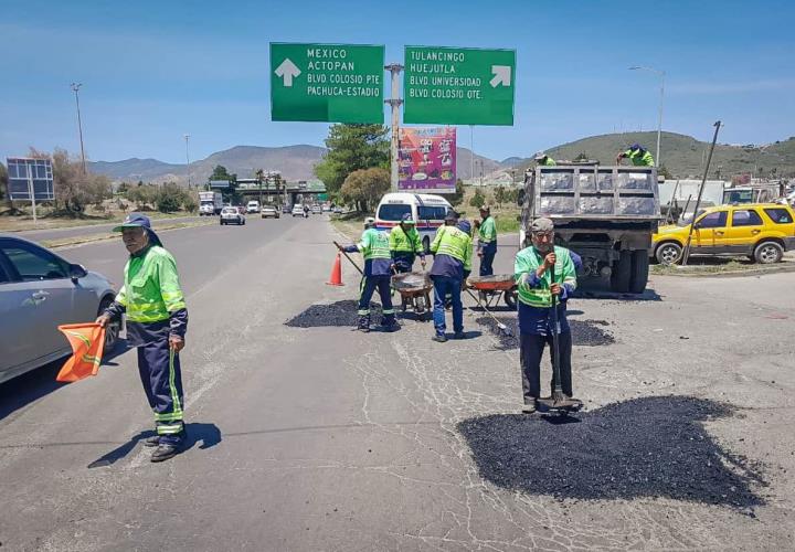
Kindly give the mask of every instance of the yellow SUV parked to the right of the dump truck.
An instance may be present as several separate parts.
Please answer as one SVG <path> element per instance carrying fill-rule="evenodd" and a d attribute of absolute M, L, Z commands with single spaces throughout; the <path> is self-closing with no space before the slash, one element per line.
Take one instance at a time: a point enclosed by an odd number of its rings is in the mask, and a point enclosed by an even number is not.
<path fill-rule="evenodd" d="M 660 226 L 651 253 L 671 265 L 679 261 L 690 223 Z M 795 247 L 795 213 L 789 205 L 742 203 L 704 209 L 696 219 L 690 253 L 748 255 L 757 263 L 777 263 Z"/>

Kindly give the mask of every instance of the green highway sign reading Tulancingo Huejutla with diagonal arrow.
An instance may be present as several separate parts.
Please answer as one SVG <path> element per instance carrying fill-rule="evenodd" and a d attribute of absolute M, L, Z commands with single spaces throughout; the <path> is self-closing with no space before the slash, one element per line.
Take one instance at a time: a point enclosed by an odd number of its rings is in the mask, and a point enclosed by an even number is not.
<path fill-rule="evenodd" d="M 406 46 L 403 123 L 513 125 L 516 51 Z"/>

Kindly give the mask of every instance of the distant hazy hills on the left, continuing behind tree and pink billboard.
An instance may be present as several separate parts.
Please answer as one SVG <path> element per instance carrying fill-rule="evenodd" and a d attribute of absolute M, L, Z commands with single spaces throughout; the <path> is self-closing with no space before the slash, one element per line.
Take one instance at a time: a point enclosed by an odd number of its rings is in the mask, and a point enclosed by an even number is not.
<path fill-rule="evenodd" d="M 226 167 L 231 173 L 241 178 L 252 178 L 256 169 L 278 170 L 285 179 L 315 179 L 312 168 L 322 159 L 326 148 L 318 146 L 285 146 L 280 148 L 263 148 L 259 146 L 235 146 L 218 151 L 206 159 L 190 164 L 193 182 L 205 182 L 216 164 Z M 468 179 L 471 152 L 467 148 L 458 148 L 458 178 Z M 166 163 L 157 159 L 125 159 L 124 161 L 96 161 L 89 163 L 92 172 L 106 174 L 114 181 L 146 182 L 176 181 L 188 182 L 186 164 Z M 494 159 L 475 155 L 475 174 L 488 174 L 500 167 Z"/>

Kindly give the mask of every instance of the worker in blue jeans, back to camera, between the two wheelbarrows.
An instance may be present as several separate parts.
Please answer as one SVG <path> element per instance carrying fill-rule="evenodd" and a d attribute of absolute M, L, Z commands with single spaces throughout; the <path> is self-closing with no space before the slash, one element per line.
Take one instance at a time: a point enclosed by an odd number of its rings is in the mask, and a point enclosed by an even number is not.
<path fill-rule="evenodd" d="M 464 308 L 460 291 L 464 280 L 471 272 L 471 225 L 459 221 L 455 226 L 441 226 L 431 244 L 434 264 L 431 278 L 434 283 L 434 328 L 433 340 L 447 341 L 445 330 L 445 297 L 453 302 L 453 330 L 456 339 L 464 338 Z"/>

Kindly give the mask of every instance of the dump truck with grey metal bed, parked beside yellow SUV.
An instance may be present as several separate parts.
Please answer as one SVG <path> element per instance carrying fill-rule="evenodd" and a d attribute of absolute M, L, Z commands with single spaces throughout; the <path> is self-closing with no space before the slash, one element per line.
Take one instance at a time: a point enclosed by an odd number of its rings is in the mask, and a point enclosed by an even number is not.
<path fill-rule="evenodd" d="M 660 221 L 657 169 L 600 164 L 537 167 L 524 174 L 519 240 L 539 216 L 552 219 L 555 243 L 582 257 L 581 276 L 608 277 L 611 289 L 646 289 L 651 234 Z"/>

